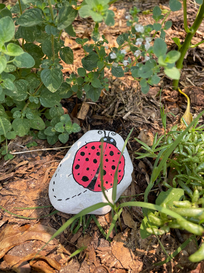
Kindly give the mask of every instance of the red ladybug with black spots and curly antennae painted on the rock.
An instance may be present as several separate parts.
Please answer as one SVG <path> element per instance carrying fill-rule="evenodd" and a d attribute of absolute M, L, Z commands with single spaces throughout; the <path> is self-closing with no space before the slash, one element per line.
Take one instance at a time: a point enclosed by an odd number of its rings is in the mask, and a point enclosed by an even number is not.
<path fill-rule="evenodd" d="M 102 131 L 98 133 L 101 134 Z M 116 134 L 109 132 L 108 136 L 102 137 L 100 141 L 85 144 L 75 155 L 72 166 L 73 177 L 77 183 L 89 190 L 102 191 L 101 171 L 104 189 L 111 188 L 118 164 L 118 183 L 123 179 L 125 158 L 123 155 L 120 158 L 121 152 L 116 147 L 114 138 L 109 136 L 110 133 L 113 136 Z"/>

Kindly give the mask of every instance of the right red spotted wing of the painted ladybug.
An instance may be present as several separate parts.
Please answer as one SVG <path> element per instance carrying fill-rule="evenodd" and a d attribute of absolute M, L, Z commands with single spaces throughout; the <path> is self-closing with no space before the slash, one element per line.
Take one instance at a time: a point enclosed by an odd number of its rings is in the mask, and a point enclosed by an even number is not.
<path fill-rule="evenodd" d="M 103 153 L 103 187 L 107 190 L 113 187 L 114 175 L 118 166 L 121 152 L 112 144 L 107 144 Z M 124 176 L 125 158 L 122 155 L 118 167 L 118 184 Z M 101 171 L 95 184 L 94 191 L 101 191 Z"/>

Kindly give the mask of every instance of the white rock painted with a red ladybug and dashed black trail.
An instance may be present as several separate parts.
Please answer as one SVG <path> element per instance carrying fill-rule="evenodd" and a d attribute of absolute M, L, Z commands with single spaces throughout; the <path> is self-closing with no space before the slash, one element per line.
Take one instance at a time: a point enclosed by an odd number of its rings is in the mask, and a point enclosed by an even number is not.
<path fill-rule="evenodd" d="M 107 203 L 102 193 L 101 171 L 103 188 L 112 202 L 114 174 L 119 164 L 117 200 L 132 180 L 132 162 L 126 148 L 121 156 L 123 146 L 124 140 L 115 132 L 91 130 L 85 133 L 67 152 L 51 178 L 52 206 L 60 212 L 77 214 L 99 202 Z M 106 214 L 110 210 L 110 206 L 104 206 L 90 213 Z"/>

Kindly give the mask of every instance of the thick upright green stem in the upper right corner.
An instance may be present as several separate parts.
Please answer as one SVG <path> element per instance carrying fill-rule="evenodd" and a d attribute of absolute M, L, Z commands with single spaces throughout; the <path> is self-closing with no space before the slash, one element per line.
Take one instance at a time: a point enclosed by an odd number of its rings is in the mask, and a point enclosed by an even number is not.
<path fill-rule="evenodd" d="M 179 70 L 181 70 L 181 68 L 183 66 L 183 60 L 184 60 L 184 57 L 185 57 L 189 47 L 191 46 L 191 40 L 192 40 L 193 36 L 195 35 L 196 31 L 198 30 L 198 28 L 200 27 L 203 19 L 204 19 L 204 3 L 200 6 L 197 17 L 196 17 L 192 27 L 189 29 L 189 32 L 187 33 L 184 43 L 180 49 L 180 58 L 178 59 L 177 64 L 176 64 L 176 67 Z M 179 80 L 173 80 L 173 88 L 174 89 L 178 88 L 178 82 L 179 82 Z"/>

